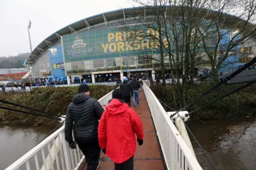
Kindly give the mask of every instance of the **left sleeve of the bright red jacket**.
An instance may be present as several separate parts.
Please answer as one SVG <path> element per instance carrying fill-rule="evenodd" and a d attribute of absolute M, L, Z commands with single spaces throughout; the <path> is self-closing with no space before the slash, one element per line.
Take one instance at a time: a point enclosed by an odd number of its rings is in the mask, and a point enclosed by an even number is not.
<path fill-rule="evenodd" d="M 98 140 L 99 140 L 100 148 L 102 149 L 106 148 L 106 144 L 107 144 L 105 114 L 106 114 L 106 111 L 103 112 L 102 117 L 100 118 L 99 126 L 98 126 Z"/>

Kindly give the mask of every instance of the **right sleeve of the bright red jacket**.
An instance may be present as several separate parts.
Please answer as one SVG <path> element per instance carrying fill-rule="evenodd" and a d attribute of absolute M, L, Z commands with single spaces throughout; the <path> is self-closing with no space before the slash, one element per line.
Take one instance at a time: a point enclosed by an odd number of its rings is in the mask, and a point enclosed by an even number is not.
<path fill-rule="evenodd" d="M 132 124 L 132 129 L 136 133 L 138 139 L 143 139 L 144 132 L 143 132 L 143 125 L 142 125 L 142 121 L 140 120 L 140 117 L 132 108 L 129 108 L 129 112 L 130 112 L 130 121 Z"/>

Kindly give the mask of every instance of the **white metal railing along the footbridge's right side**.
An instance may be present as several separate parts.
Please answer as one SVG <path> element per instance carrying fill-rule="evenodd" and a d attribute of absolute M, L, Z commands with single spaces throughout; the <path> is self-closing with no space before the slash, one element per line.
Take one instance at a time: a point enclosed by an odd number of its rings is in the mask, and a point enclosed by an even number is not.
<path fill-rule="evenodd" d="M 148 106 L 156 127 L 156 133 L 162 148 L 168 170 L 202 170 L 198 161 L 186 145 L 166 111 L 148 87 L 143 83 Z"/>

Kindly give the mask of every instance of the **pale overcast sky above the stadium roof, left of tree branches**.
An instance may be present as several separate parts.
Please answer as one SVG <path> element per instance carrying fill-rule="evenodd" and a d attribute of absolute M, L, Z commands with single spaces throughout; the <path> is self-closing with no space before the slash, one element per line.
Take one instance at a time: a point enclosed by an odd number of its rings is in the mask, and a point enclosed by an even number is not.
<path fill-rule="evenodd" d="M 0 56 L 30 52 L 57 30 L 83 18 L 131 7 L 127 0 L 0 0 Z"/>

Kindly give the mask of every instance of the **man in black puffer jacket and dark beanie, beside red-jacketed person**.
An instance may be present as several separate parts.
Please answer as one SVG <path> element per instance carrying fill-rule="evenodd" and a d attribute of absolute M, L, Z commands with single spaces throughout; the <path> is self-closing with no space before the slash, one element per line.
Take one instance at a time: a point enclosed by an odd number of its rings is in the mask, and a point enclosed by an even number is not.
<path fill-rule="evenodd" d="M 100 146 L 98 142 L 98 124 L 104 109 L 98 100 L 89 96 L 90 87 L 87 84 L 78 86 L 77 95 L 73 96 L 68 106 L 65 122 L 65 139 L 70 148 L 76 148 L 72 138 L 74 122 L 74 138 L 82 150 L 87 170 L 98 169 L 100 162 Z"/>

